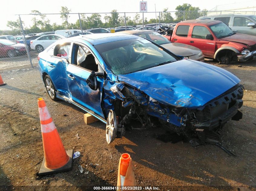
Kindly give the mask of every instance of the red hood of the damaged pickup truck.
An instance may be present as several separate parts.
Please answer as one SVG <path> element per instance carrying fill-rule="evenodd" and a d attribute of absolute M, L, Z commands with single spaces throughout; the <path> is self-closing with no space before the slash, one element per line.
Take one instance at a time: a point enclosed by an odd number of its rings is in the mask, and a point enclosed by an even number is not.
<path fill-rule="evenodd" d="M 249 46 L 256 44 L 256 36 L 249 35 L 249 34 L 241 34 L 241 33 L 236 33 L 230 37 L 222 38 L 222 40 L 228 40 L 231 42 L 247 44 Z"/>

